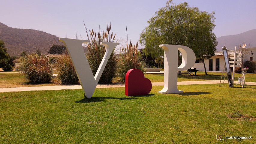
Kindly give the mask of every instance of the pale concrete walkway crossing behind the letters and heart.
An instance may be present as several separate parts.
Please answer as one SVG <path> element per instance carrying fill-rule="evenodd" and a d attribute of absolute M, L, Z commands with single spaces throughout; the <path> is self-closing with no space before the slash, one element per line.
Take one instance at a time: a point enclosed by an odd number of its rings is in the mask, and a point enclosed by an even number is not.
<path fill-rule="evenodd" d="M 178 85 L 196 85 L 196 84 L 217 84 L 219 80 L 206 80 L 206 81 L 185 81 L 178 82 Z M 222 82 L 223 83 L 223 82 Z M 225 80 L 227 83 L 227 80 Z M 239 85 L 237 81 L 234 84 Z M 152 82 L 152 86 L 164 85 L 164 82 Z M 256 85 L 256 82 L 245 82 L 246 85 Z M 96 88 L 114 88 L 125 87 L 125 83 L 116 84 L 98 84 Z M 42 90 L 61 90 L 61 89 L 82 89 L 81 85 L 56 85 L 56 86 L 33 86 L 33 87 L 18 87 L 18 88 L 0 88 L 0 92 L 10 91 L 42 91 Z"/>

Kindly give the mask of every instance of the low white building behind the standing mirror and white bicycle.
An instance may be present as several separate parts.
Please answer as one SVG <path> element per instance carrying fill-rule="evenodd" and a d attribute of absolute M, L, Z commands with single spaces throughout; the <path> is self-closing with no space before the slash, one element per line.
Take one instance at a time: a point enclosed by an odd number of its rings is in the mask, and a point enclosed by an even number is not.
<path fill-rule="evenodd" d="M 238 53 L 239 51 L 236 50 Z M 235 50 L 228 50 L 227 54 L 229 57 L 234 57 Z M 256 47 L 248 48 L 248 55 L 245 55 L 243 58 L 243 62 L 245 61 L 256 61 Z M 215 52 L 215 55 L 212 56 L 209 60 L 204 60 L 206 71 L 223 71 L 225 61 L 223 52 Z M 203 60 L 196 59 L 196 62 L 192 68 L 196 68 L 197 70 L 204 71 Z"/>

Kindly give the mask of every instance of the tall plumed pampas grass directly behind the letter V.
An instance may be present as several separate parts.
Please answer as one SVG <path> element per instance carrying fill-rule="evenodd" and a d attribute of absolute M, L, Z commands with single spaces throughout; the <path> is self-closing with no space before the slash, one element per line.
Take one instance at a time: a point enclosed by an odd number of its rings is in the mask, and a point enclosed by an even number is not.
<path fill-rule="evenodd" d="M 95 75 L 95 73 L 97 72 L 98 67 L 101 64 L 103 56 L 106 52 L 105 46 L 100 45 L 100 43 L 102 41 L 107 41 L 107 42 L 115 41 L 116 35 L 113 36 L 113 32 L 110 32 L 110 29 L 111 29 L 111 25 L 109 24 L 109 26 L 107 25 L 107 31 L 106 32 L 103 31 L 102 34 L 100 32 L 96 33 L 93 30 L 90 32 L 90 34 L 88 34 L 87 28 L 86 28 L 86 34 L 87 34 L 88 40 L 90 41 L 89 44 L 87 45 L 88 51 L 86 53 L 86 57 L 92 69 L 93 75 Z M 99 83 L 111 83 L 113 77 L 115 76 L 117 59 L 116 59 L 116 55 L 114 55 L 114 50 L 112 51 L 110 58 L 107 61 L 107 65 L 101 75 Z"/>

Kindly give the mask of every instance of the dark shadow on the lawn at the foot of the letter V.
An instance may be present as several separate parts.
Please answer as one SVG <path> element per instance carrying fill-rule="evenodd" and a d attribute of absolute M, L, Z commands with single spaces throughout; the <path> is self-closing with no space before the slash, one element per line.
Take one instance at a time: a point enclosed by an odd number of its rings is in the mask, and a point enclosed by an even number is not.
<path fill-rule="evenodd" d="M 92 102 L 100 102 L 105 101 L 105 99 L 118 99 L 118 100 L 132 100 L 137 99 L 134 97 L 123 97 L 123 98 L 113 98 L 113 97 L 92 97 L 92 98 L 83 98 L 80 101 L 75 101 L 75 103 L 92 103 Z"/>

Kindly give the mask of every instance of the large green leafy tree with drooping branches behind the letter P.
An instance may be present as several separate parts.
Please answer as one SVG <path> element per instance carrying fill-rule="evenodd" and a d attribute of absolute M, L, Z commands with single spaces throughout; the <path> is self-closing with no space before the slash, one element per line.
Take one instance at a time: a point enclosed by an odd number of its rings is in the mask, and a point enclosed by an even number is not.
<path fill-rule="evenodd" d="M 167 1 L 166 7 L 159 9 L 149 19 L 149 26 L 141 33 L 140 44 L 145 46 L 144 52 L 159 57 L 164 54 L 159 44 L 184 45 L 194 51 L 196 58 L 209 59 L 217 46 L 216 36 L 212 32 L 215 27 L 214 12 L 189 7 L 187 2 L 178 5 L 171 2 Z M 180 58 L 178 63 L 181 63 Z"/>

